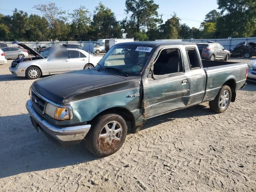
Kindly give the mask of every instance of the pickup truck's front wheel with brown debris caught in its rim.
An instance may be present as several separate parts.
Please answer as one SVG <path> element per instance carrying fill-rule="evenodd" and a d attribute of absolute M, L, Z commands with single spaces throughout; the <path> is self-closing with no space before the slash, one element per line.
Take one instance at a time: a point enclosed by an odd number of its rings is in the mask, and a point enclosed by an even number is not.
<path fill-rule="evenodd" d="M 86 149 L 98 157 L 109 156 L 124 144 L 127 130 L 126 121 L 122 116 L 103 114 L 92 122 L 90 131 L 85 137 Z"/>

